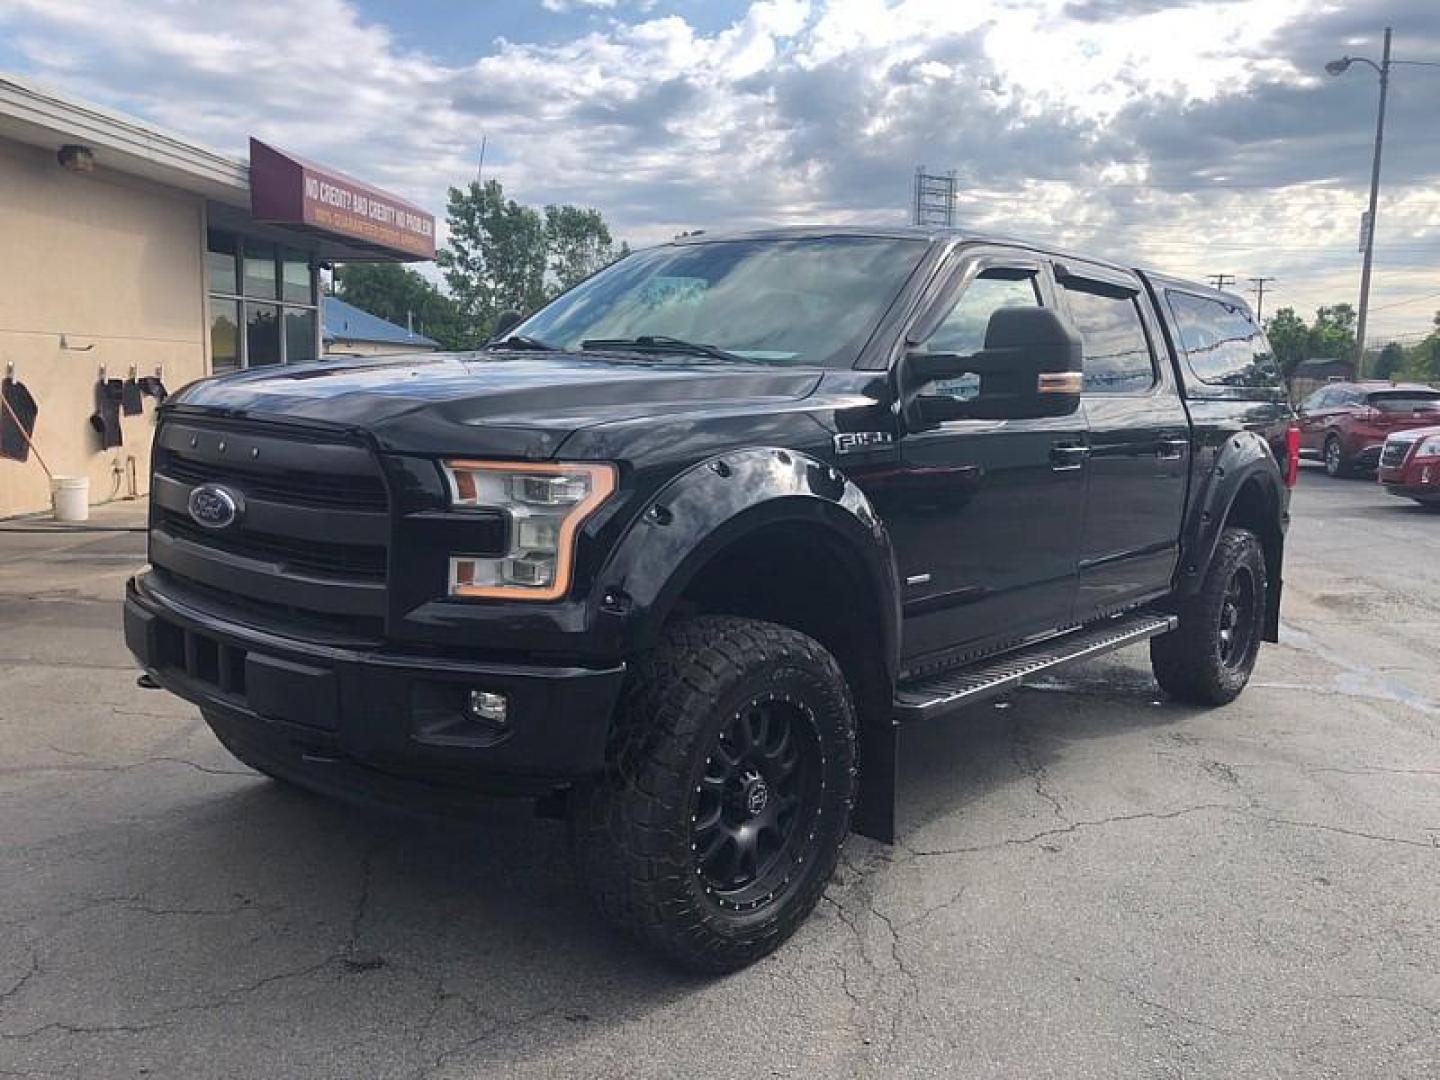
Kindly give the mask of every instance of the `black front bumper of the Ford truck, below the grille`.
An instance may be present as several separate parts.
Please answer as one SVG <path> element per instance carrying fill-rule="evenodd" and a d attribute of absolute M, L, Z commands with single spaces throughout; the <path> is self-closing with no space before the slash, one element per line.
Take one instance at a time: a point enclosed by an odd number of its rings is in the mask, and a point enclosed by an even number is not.
<path fill-rule="evenodd" d="M 320 645 L 202 611 L 151 575 L 127 585 L 125 644 L 242 760 L 325 793 L 422 809 L 544 795 L 600 772 L 625 677 L 624 665 Z M 472 691 L 503 696 L 504 721 L 474 716 Z"/>

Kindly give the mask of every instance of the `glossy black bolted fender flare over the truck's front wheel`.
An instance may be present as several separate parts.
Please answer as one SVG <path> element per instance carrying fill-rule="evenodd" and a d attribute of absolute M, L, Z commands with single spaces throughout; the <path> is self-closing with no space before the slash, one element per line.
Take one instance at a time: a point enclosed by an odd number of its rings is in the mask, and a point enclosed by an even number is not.
<path fill-rule="evenodd" d="M 829 544 L 873 590 L 883 668 L 893 678 L 900 655 L 900 589 L 890 536 L 870 500 L 842 472 L 791 449 L 720 454 L 660 488 L 600 569 L 592 593 L 596 625 L 611 624 L 626 654 L 648 648 L 714 556 L 778 523 L 814 527 L 818 541 Z"/>

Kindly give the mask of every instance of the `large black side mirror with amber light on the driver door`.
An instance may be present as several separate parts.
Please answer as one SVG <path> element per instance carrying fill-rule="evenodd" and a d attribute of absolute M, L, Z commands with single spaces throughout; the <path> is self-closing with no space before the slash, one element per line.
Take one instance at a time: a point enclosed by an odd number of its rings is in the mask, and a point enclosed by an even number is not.
<path fill-rule="evenodd" d="M 913 428 L 1067 416 L 1080 408 L 1080 337 L 1050 308 L 998 308 L 972 356 L 910 351 L 900 377 Z"/>

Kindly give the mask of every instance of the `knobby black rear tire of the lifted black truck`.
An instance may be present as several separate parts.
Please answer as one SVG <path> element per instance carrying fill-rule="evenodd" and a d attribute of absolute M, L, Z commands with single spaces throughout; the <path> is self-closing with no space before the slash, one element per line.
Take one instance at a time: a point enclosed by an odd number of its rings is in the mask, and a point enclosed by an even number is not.
<path fill-rule="evenodd" d="M 1248 579 L 1241 592 L 1248 603 L 1230 626 L 1237 577 Z M 1250 681 L 1266 618 L 1266 564 L 1260 539 L 1248 528 L 1227 528 L 1205 570 L 1200 592 L 1187 598 L 1176 612 L 1179 626 L 1151 638 L 1151 667 L 1161 688 L 1176 701 L 1223 706 L 1234 701 Z M 1237 638 L 1236 635 L 1243 635 Z"/>

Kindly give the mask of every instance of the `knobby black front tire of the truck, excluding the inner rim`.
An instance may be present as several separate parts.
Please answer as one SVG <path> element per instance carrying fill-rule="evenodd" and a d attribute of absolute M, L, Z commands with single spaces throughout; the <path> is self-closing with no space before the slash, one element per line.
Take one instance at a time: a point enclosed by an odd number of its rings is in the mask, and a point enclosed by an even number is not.
<path fill-rule="evenodd" d="M 773 893 L 737 909 L 707 883 L 697 816 L 706 799 L 717 798 L 713 760 L 721 755 L 721 736 L 732 733 L 721 757 L 729 762 L 734 724 L 742 714 L 756 716 L 746 711 L 755 708 L 791 710 L 783 716 L 795 717 L 785 730 L 812 755 L 805 773 L 814 782 L 806 798 L 788 804 L 812 805 L 791 811 L 808 815 L 789 818 L 796 847 L 772 857 L 778 863 L 770 878 L 757 878 L 760 888 L 773 880 Z M 763 723 L 769 732 L 770 720 Z M 711 785 L 704 795 L 703 780 Z M 575 792 L 576 868 L 600 913 L 622 930 L 691 971 L 736 971 L 776 949 L 819 901 L 850 828 L 854 795 L 855 708 L 834 657 L 786 626 L 733 616 L 684 619 L 635 662 L 605 776 Z M 796 831 L 793 822 L 809 828 Z"/>

